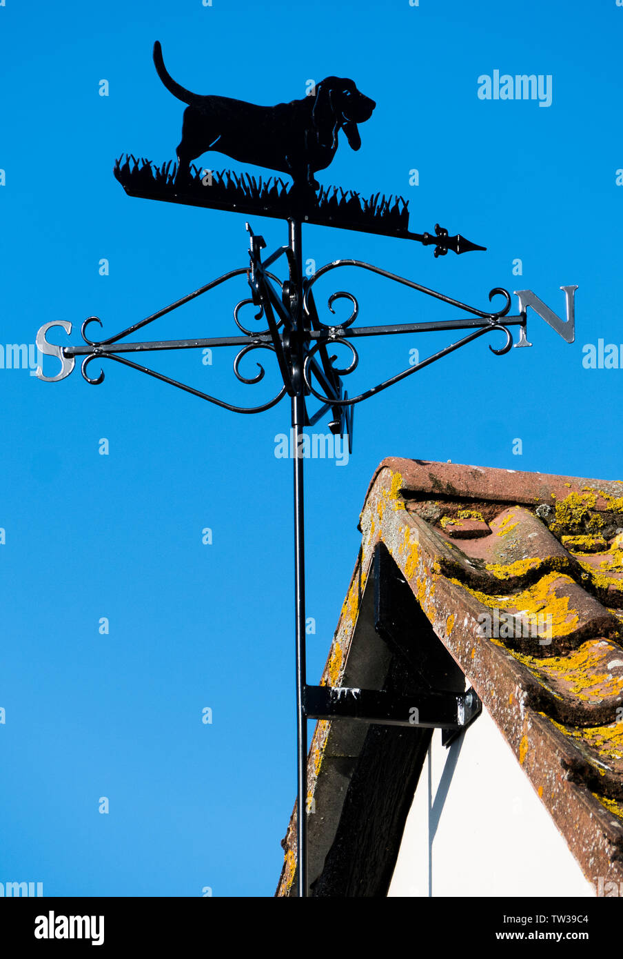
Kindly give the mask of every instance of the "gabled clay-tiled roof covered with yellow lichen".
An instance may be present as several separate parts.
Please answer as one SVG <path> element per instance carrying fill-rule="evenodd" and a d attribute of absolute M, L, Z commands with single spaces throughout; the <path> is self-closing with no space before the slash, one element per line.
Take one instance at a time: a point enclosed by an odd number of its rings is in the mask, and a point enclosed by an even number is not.
<path fill-rule="evenodd" d="M 408 584 L 408 616 L 426 618 L 473 685 L 585 876 L 623 880 L 623 481 L 388 458 L 359 528 L 321 685 L 387 682 L 391 656 L 366 593 L 384 545 Z M 420 630 L 409 640 L 416 669 L 424 637 Z M 317 723 L 308 764 L 314 895 L 384 895 L 427 735 Z M 392 750 L 404 766 L 396 788 L 385 778 L 362 815 L 362 788 L 377 788 L 381 754 Z M 376 835 L 368 825 L 375 803 L 384 805 Z M 278 896 L 295 895 L 295 835 L 293 813 Z M 341 875 L 345 857 L 377 854 L 380 840 L 376 884 L 353 862 Z"/>

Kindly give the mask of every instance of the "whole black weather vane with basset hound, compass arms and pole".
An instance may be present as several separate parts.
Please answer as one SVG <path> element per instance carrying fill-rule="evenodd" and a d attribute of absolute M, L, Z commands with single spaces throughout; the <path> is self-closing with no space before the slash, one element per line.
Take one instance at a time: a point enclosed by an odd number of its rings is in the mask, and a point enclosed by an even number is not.
<path fill-rule="evenodd" d="M 407 202 L 402 197 L 390 196 L 386 199 L 384 195 L 381 197 L 381 193 L 377 193 L 370 199 L 363 199 L 357 192 L 344 191 L 340 187 L 324 187 L 316 181 L 315 174 L 327 169 L 335 156 L 340 131 L 344 133 L 353 150 L 359 149 L 361 140 L 358 127 L 370 120 L 376 107 L 375 102 L 361 93 L 352 80 L 327 77 L 315 85 L 309 96 L 301 100 L 276 106 L 259 106 L 227 97 L 200 96 L 187 90 L 168 73 L 158 42 L 153 47 L 153 60 L 158 76 L 167 89 L 187 104 L 182 137 L 176 151 L 176 163 L 170 161 L 157 166 L 149 160 L 136 159 L 131 154 L 126 155 L 123 162 L 121 159 L 117 160 L 114 174 L 127 195 L 286 220 L 288 244 L 277 247 L 263 259 L 265 241 L 262 236 L 254 234 L 247 222 L 250 261 L 248 266 L 224 273 L 169 306 L 133 323 L 121 333 L 105 339 L 89 339 L 87 336 L 87 330 L 92 323 L 102 326 L 102 321 L 97 316 L 90 316 L 82 323 L 83 344 L 77 346 L 59 346 L 47 339 L 48 330 L 55 326 L 60 326 L 65 333 L 71 334 L 70 322 L 53 320 L 44 323 L 36 335 L 37 347 L 42 354 L 58 358 L 61 365 L 58 373 L 53 376 L 44 375 L 41 366 L 37 367 L 36 375 L 47 383 L 58 382 L 69 376 L 76 364 L 76 358 L 81 357 L 81 373 L 87 383 L 101 384 L 104 381 L 101 363 L 104 360 L 113 360 L 235 412 L 263 412 L 288 396 L 293 447 L 296 450 L 296 455 L 293 456 L 293 479 L 297 890 L 299 896 L 305 897 L 308 895 L 307 720 L 348 716 L 367 722 L 392 723 L 411 728 L 424 725 L 460 731 L 473 719 L 480 707 L 473 690 L 461 696 L 445 693 L 446 698 L 435 700 L 436 705 L 433 704 L 432 707 L 427 704 L 427 694 L 423 692 L 420 722 L 414 724 L 413 715 L 409 714 L 408 710 L 405 711 L 403 702 L 391 702 L 386 695 L 375 690 L 358 690 L 356 697 L 352 694 L 353 690 L 328 690 L 307 685 L 303 431 L 305 427 L 312 426 L 327 416 L 332 433 L 348 437 L 349 447 L 352 449 L 353 409 L 356 404 L 487 334 L 501 333 L 505 338 L 498 348 L 489 347 L 497 356 L 508 353 L 513 345 L 531 346 L 526 332 L 528 307 L 542 316 L 566 342 L 573 342 L 577 287 L 561 287 L 565 292 L 564 320 L 530 290 L 515 292 L 519 297 L 519 312 L 511 316 L 511 294 L 500 287 L 489 293 L 490 302 L 496 296 L 501 297 L 499 309 L 481 310 L 361 260 L 335 260 L 316 269 L 310 277 L 305 276 L 301 245 L 303 223 L 338 226 L 342 229 L 415 240 L 424 246 L 433 245 L 435 256 L 445 255 L 449 250 L 464 253 L 483 250 L 485 247 L 476 246 L 460 234 L 450 236 L 448 230 L 439 224 L 435 226 L 434 235 L 410 232 Z M 225 153 L 242 163 L 253 163 L 278 171 L 288 175 L 291 183 L 286 183 L 281 177 L 270 176 L 263 182 L 262 177 L 256 180 L 249 174 L 201 171 L 192 161 L 208 151 Z M 273 272 L 277 265 L 283 267 L 282 279 Z M 356 296 L 351 292 L 337 291 L 328 300 L 330 313 L 335 317 L 333 307 L 337 299 L 347 299 L 352 307 L 351 315 L 339 322 L 332 317 L 329 322 L 322 322 L 316 311 L 313 288 L 321 276 L 344 267 L 368 270 L 415 292 L 447 303 L 468 316 L 455 316 L 449 320 L 434 322 L 355 326 L 359 312 Z M 236 276 L 246 278 L 250 291 L 250 296 L 240 300 L 234 307 L 234 322 L 239 330 L 236 336 L 126 341 L 126 338 L 137 330 Z M 262 328 L 250 329 L 243 325 L 240 314 L 242 307 L 248 305 L 256 308 L 255 320 L 263 322 Z M 519 326 L 519 339 L 515 344 L 510 330 L 512 326 Z M 343 377 L 353 373 L 358 366 L 358 351 L 355 346 L 358 338 L 441 330 L 468 332 L 420 363 L 410 365 L 390 379 L 349 397 L 344 388 Z M 336 366 L 335 355 L 330 355 L 330 349 L 336 344 L 345 346 L 350 351 L 346 366 Z M 242 384 L 248 386 L 259 384 L 264 379 L 265 367 L 258 363 L 256 375 L 245 377 L 240 369 L 242 359 L 255 350 L 268 351 L 274 354 L 283 386 L 275 396 L 258 406 L 240 407 L 129 359 L 130 356 L 153 351 L 205 347 L 237 347 L 234 374 Z M 91 363 L 100 366 L 94 376 L 88 372 Z M 307 406 L 311 396 L 321 404 L 313 413 Z M 411 706 L 412 698 L 409 700 Z"/>

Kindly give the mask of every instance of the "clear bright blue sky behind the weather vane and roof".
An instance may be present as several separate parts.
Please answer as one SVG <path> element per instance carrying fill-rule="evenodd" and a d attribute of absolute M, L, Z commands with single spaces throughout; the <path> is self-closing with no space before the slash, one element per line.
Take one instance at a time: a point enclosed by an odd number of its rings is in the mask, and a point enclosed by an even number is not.
<path fill-rule="evenodd" d="M 531 314 L 531 349 L 497 358 L 476 340 L 359 406 L 346 467 L 306 462 L 311 682 L 384 456 L 623 476 L 623 370 L 582 363 L 586 344 L 623 341 L 622 31 L 615 0 L 0 7 L 2 345 L 34 343 L 53 319 L 78 342 L 93 314 L 112 336 L 246 265 L 243 216 L 129 199 L 112 175 L 122 152 L 174 156 L 183 106 L 156 76 L 155 39 L 173 77 L 202 93 L 274 104 L 309 80 L 352 77 L 378 106 L 360 151 L 342 138 L 320 180 L 400 193 L 412 230 L 440 222 L 488 247 L 435 260 L 308 226 L 317 267 L 359 258 L 483 308 L 502 286 L 562 313 L 559 288 L 578 285 L 573 345 Z M 551 76 L 552 104 L 479 99 L 494 70 Z M 285 242 L 285 223 L 249 219 L 269 249 Z M 245 289 L 208 293 L 145 339 L 233 335 Z M 357 271 L 315 289 L 319 308 L 335 289 L 356 292 L 362 325 L 455 316 Z M 349 392 L 449 341 L 363 341 Z M 233 356 L 159 354 L 153 366 L 233 403 L 276 392 L 268 354 L 259 386 L 236 382 Z M 0 881 L 43 881 L 49 896 L 272 895 L 295 794 L 291 461 L 274 456 L 288 402 L 237 416 L 115 363 L 105 373 L 94 387 L 79 370 L 46 384 L 0 369 Z"/>

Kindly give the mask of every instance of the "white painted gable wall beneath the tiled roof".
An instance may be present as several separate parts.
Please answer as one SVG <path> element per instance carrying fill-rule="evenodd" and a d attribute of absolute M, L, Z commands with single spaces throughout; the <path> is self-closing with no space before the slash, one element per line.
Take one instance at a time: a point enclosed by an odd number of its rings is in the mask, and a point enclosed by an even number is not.
<path fill-rule="evenodd" d="M 435 730 L 389 896 L 594 896 L 491 715 Z"/>

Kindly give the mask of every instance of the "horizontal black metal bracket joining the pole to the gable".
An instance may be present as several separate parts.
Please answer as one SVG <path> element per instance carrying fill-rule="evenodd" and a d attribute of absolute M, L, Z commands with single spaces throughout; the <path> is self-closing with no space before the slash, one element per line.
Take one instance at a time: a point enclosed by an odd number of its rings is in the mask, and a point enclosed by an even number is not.
<path fill-rule="evenodd" d="M 475 690 L 434 692 L 421 690 L 394 696 L 386 690 L 306 686 L 303 697 L 308 719 L 359 719 L 383 726 L 442 729 L 454 738 L 482 712 Z"/>

